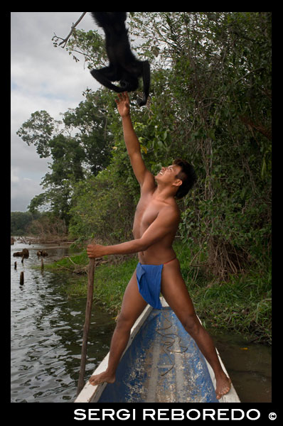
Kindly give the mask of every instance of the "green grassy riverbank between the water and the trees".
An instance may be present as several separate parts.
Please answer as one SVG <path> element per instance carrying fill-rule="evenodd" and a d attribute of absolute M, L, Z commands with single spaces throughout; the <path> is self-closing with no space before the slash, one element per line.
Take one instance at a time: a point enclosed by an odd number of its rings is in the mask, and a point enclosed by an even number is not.
<path fill-rule="evenodd" d="M 216 283 L 208 280 L 200 267 L 196 273 L 186 246 L 175 244 L 174 249 L 196 312 L 205 327 L 239 332 L 249 342 L 272 343 L 271 271 L 268 268 L 265 273 L 251 268 L 245 275 L 232 275 L 227 282 Z M 94 301 L 116 316 L 124 290 L 137 266 L 137 256 L 115 264 L 109 256 L 97 263 Z M 73 273 L 68 294 L 78 297 L 87 294 L 87 264 L 87 253 L 83 251 L 78 256 L 68 256 L 46 265 L 46 268 Z"/>

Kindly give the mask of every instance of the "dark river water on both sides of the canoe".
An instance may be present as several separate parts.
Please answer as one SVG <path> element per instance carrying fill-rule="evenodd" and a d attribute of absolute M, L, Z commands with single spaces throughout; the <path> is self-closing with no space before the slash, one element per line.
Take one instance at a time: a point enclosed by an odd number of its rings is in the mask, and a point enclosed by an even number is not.
<path fill-rule="evenodd" d="M 21 263 L 13 253 L 23 248 L 29 258 Z M 86 297 L 68 296 L 70 274 L 31 268 L 41 266 L 38 249 L 48 252 L 44 263 L 69 253 L 68 247 L 55 244 L 28 246 L 15 241 L 11 246 L 11 402 L 73 403 Z M 114 326 L 111 315 L 92 307 L 85 381 L 109 351 Z M 247 344 L 239 334 L 209 332 L 241 402 L 271 402 L 271 348 Z"/>

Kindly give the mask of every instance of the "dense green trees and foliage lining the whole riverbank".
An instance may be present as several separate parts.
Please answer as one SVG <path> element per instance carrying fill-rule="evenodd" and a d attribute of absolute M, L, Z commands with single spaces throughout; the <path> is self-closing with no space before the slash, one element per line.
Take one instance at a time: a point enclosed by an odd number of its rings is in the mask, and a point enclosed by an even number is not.
<path fill-rule="evenodd" d="M 271 13 L 135 12 L 129 33 L 151 62 L 147 107 L 131 105 L 147 167 L 176 157 L 193 163 L 198 181 L 180 202 L 179 236 L 191 267 L 218 280 L 251 267 L 268 269 L 271 231 Z M 96 31 L 74 31 L 69 53 L 88 67 L 105 63 Z M 135 43 L 137 44 L 137 42 Z M 76 55 L 76 56 L 75 56 Z M 105 243 L 132 238 L 139 185 L 107 89 L 87 89 L 63 121 L 36 111 L 19 129 L 38 155 L 50 156 L 44 204 L 71 236 Z M 131 99 L 137 94 L 131 94 Z"/>

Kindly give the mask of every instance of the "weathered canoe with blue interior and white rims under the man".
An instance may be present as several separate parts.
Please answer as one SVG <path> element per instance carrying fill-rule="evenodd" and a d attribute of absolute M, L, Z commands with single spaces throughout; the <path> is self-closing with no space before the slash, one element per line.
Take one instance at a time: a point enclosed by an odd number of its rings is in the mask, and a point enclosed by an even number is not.
<path fill-rule="evenodd" d="M 147 305 L 132 327 L 116 381 L 87 381 L 75 403 L 240 403 L 233 385 L 216 399 L 212 368 L 163 297 L 161 303 L 162 310 Z M 105 371 L 108 358 L 92 374 Z"/>

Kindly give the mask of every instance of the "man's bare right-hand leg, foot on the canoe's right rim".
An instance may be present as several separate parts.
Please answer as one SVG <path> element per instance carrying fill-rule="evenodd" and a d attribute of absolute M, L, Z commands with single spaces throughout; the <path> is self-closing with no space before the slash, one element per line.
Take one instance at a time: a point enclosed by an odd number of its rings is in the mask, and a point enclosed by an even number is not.
<path fill-rule="evenodd" d="M 221 398 L 230 391 L 231 381 L 221 367 L 213 340 L 196 316 L 193 302 L 181 275 L 178 259 L 164 265 L 161 293 L 213 368 L 216 379 L 216 397 Z"/>

